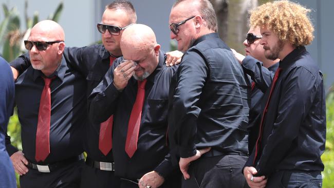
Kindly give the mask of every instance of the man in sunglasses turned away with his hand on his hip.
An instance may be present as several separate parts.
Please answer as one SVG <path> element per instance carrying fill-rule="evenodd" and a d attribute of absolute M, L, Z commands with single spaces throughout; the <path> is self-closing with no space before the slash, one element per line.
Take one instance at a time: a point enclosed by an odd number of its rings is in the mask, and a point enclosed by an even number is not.
<path fill-rule="evenodd" d="M 177 1 L 169 23 L 171 39 L 185 51 L 172 79 L 168 118 L 182 187 L 244 187 L 249 101 L 243 69 L 219 39 L 208 0 Z"/>

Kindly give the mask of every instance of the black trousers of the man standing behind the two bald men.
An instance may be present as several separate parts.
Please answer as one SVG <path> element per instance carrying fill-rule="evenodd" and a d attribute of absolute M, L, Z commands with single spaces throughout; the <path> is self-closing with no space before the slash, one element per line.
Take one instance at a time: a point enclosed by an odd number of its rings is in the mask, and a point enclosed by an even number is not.
<path fill-rule="evenodd" d="M 113 171 L 101 171 L 95 167 L 84 165 L 81 176 L 81 188 L 119 188 L 120 179 Z"/>

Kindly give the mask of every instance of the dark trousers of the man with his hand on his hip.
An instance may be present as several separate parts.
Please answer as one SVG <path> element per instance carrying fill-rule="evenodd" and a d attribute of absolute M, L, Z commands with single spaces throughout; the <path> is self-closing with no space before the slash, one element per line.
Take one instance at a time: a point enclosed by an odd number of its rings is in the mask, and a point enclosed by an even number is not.
<path fill-rule="evenodd" d="M 248 157 L 238 155 L 199 158 L 190 166 L 190 179 L 182 177 L 182 188 L 248 187 L 242 174 Z"/>

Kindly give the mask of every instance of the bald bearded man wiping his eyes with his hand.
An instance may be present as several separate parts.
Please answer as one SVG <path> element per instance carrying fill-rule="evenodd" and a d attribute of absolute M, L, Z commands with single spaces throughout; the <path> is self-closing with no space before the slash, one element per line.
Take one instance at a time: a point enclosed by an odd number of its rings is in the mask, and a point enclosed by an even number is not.
<path fill-rule="evenodd" d="M 168 92 L 177 66 L 165 65 L 148 26 L 129 26 L 120 46 L 123 58 L 89 96 L 90 118 L 100 123 L 114 115 L 113 154 L 120 187 L 178 187 L 166 146 Z"/>

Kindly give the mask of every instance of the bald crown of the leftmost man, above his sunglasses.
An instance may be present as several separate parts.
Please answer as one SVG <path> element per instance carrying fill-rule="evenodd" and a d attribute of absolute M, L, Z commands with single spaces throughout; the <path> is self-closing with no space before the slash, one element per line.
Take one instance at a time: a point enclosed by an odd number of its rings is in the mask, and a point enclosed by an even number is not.
<path fill-rule="evenodd" d="M 31 35 L 45 37 L 45 41 L 65 41 L 65 33 L 62 26 L 51 20 L 44 20 L 33 26 Z"/>

